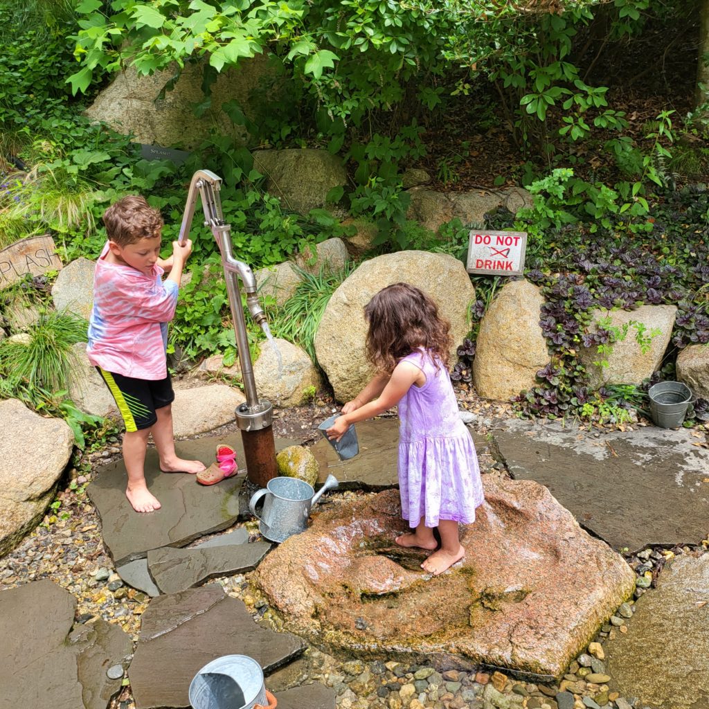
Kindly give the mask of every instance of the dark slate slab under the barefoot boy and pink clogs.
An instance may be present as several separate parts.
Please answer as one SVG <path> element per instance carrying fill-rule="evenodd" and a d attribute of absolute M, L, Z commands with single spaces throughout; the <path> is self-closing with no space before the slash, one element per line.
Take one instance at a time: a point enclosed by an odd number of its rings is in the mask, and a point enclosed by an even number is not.
<path fill-rule="evenodd" d="M 147 486 L 162 507 L 157 512 L 140 514 L 125 498 L 123 460 L 100 469 L 86 488 L 103 525 L 104 544 L 116 566 L 147 556 L 150 549 L 184 547 L 203 535 L 230 527 L 240 515 L 239 491 L 245 479 L 245 460 L 238 435 L 211 436 L 175 444 L 180 457 L 214 461 L 217 443 L 225 442 L 237 451 L 240 473 L 217 485 L 202 486 L 194 475 L 161 473 L 157 452 L 151 448 L 145 457 Z M 276 450 L 294 445 L 290 439 L 277 439 Z M 243 513 L 243 507 L 241 508 Z"/>

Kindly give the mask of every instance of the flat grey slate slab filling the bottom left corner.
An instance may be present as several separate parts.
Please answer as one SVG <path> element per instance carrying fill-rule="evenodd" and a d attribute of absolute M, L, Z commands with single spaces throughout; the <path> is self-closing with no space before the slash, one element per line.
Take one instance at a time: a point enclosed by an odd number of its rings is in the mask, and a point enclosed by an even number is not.
<path fill-rule="evenodd" d="M 106 709 L 120 691 L 130 637 L 105 620 L 72 632 L 76 605 L 48 580 L 0 591 L 0 706 Z"/>

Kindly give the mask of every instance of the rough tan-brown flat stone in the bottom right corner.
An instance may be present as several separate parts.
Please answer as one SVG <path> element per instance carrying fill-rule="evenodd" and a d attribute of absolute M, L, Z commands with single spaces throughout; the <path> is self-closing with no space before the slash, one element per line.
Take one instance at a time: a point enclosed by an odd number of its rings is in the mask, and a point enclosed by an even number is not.
<path fill-rule="evenodd" d="M 606 640 L 612 689 L 657 709 L 709 707 L 709 554 L 683 554 L 636 601 L 626 635 Z"/>

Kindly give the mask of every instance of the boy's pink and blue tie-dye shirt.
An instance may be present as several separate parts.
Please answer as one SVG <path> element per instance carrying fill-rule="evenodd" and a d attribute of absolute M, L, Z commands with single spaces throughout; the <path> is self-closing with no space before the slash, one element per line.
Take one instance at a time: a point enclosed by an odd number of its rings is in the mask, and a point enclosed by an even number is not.
<path fill-rule="evenodd" d="M 89 318 L 89 362 L 112 374 L 156 381 L 167 376 L 167 323 L 174 317 L 179 286 L 162 281 L 153 267 L 106 262 L 108 242 L 96 262 L 94 307 Z"/>

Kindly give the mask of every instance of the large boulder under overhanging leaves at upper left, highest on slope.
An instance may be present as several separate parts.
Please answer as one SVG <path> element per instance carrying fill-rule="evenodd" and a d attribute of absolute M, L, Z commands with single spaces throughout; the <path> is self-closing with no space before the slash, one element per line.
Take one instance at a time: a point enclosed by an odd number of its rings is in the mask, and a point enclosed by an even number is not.
<path fill-rule="evenodd" d="M 163 69 L 146 77 L 128 67 L 99 93 L 86 115 L 108 123 L 119 133 L 132 133 L 138 143 L 149 145 L 180 145 L 191 150 L 215 127 L 220 135 L 233 135 L 243 142 L 245 131 L 232 123 L 221 106 L 233 99 L 248 106 L 250 92 L 267 71 L 267 60 L 255 57 L 241 60 L 238 68 L 220 72 L 211 89 L 211 108 L 196 118 L 189 106 L 204 101 L 202 67 L 186 65 L 174 89 L 165 91 L 163 98 L 159 98 L 160 91 L 172 79 L 175 69 Z"/>

